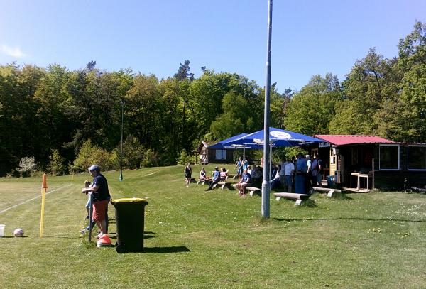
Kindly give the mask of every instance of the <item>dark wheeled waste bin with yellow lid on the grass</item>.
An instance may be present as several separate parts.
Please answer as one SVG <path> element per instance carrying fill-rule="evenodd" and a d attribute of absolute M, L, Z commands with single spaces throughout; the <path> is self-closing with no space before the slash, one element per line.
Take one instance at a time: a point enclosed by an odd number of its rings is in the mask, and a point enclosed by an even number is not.
<path fill-rule="evenodd" d="M 116 214 L 116 251 L 118 253 L 140 252 L 143 250 L 143 225 L 145 199 L 131 197 L 111 200 Z"/>

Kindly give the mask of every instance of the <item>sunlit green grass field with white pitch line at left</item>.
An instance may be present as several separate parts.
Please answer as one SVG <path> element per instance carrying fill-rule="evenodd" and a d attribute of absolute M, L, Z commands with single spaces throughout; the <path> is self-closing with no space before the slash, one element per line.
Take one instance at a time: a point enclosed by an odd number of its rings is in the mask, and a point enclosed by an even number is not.
<path fill-rule="evenodd" d="M 426 195 L 318 194 L 313 207 L 271 197 L 262 219 L 260 197 L 187 188 L 183 167 L 104 175 L 112 197 L 147 198 L 144 252 L 97 249 L 78 233 L 88 173 L 48 177 L 43 239 L 41 179 L 0 179 L 1 288 L 426 288 Z"/>

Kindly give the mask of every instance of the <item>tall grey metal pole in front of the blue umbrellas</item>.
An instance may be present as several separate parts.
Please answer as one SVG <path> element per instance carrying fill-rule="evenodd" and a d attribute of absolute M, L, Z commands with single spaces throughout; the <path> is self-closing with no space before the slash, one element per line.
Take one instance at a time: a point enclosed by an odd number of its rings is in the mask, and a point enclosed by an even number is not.
<path fill-rule="evenodd" d="M 268 0 L 268 44 L 266 47 L 266 87 L 265 87 L 265 119 L 263 121 L 263 182 L 262 182 L 262 217 L 269 218 L 269 192 L 271 191 L 271 163 L 269 160 L 269 102 L 271 94 L 271 39 L 272 39 L 272 0 Z"/>

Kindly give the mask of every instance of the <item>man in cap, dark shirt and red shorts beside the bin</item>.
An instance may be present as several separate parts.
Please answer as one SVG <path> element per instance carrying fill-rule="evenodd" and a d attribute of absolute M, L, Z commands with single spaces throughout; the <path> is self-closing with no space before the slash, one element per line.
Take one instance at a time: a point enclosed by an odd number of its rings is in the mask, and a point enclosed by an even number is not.
<path fill-rule="evenodd" d="M 101 230 L 100 237 L 107 234 L 106 211 L 109 200 L 111 200 L 111 195 L 109 195 L 107 179 L 101 174 L 99 165 L 91 165 L 87 169 L 93 177 L 93 182 L 91 187 L 84 187 L 82 193 L 92 194 L 92 220 L 96 221 L 97 226 Z"/>

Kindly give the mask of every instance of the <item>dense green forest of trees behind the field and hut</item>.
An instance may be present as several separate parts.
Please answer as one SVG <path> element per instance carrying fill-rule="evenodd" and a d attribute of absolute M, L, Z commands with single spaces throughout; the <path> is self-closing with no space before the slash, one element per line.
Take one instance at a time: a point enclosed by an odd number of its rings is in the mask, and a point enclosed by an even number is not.
<path fill-rule="evenodd" d="M 307 135 L 367 134 L 426 142 L 426 24 L 401 39 L 398 56 L 375 48 L 345 79 L 315 75 L 305 87 L 271 87 L 271 126 Z M 131 69 L 68 70 L 0 65 L 0 176 L 45 170 L 54 175 L 99 163 L 119 168 L 175 165 L 201 140 L 219 141 L 263 128 L 264 89 L 244 75 L 190 61 L 158 80 Z M 123 104 L 122 104 L 123 102 Z"/>

